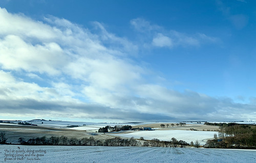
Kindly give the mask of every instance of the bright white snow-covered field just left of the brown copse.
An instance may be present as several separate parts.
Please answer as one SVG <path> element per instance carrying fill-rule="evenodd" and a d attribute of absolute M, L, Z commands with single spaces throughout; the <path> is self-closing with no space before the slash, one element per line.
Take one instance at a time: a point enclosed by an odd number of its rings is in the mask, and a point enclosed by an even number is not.
<path fill-rule="evenodd" d="M 214 139 L 214 134 L 218 135 L 216 131 L 190 131 L 190 130 L 153 130 L 153 131 L 134 131 L 131 133 L 120 133 L 111 134 L 118 137 L 126 137 L 139 139 L 143 137 L 145 140 L 159 139 L 160 141 L 170 141 L 172 138 L 176 138 L 178 141 L 186 141 L 190 143 L 191 141 L 199 141 L 201 145 L 204 145 L 207 139 Z"/>

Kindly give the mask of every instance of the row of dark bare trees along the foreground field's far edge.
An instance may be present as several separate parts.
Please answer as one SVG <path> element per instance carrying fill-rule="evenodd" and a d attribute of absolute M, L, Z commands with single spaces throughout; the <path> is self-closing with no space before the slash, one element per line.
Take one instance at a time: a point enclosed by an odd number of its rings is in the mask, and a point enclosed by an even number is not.
<path fill-rule="evenodd" d="M 5 137 L 5 132 L 0 133 L 0 144 L 8 144 L 6 143 L 7 138 Z M 198 141 L 194 144 L 191 142 L 189 145 L 185 141 L 178 141 L 175 138 L 172 138 L 170 141 L 160 141 L 159 139 L 152 140 L 144 140 L 143 137 L 136 140 L 134 137 L 130 139 L 124 139 L 120 137 L 104 139 L 104 140 L 96 140 L 93 136 L 90 138 L 68 138 L 64 135 L 60 137 L 49 137 L 46 136 L 31 138 L 26 141 L 24 138 L 19 138 L 18 143 L 21 145 L 72 145 L 72 146 L 137 146 L 137 147 L 186 147 L 186 146 L 195 146 L 199 147 L 200 144 Z"/>

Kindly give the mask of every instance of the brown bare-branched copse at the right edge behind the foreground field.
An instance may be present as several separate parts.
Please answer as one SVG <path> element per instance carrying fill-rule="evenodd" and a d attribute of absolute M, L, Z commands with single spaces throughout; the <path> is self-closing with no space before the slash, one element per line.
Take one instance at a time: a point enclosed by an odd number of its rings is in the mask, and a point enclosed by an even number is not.
<path fill-rule="evenodd" d="M 206 123 L 217 125 L 219 139 L 208 140 L 205 147 L 208 148 L 241 148 L 256 149 L 256 126 L 237 123 Z"/>

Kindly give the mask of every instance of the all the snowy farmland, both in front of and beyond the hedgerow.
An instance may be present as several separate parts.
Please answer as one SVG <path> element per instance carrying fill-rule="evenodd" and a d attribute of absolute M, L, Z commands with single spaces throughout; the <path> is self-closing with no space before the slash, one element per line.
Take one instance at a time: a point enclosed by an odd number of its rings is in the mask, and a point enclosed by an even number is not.
<path fill-rule="evenodd" d="M 6 133 L 7 142 L 17 143 L 18 138 L 25 140 L 30 138 L 60 137 L 89 138 L 95 140 L 106 140 L 116 137 L 145 140 L 159 139 L 170 141 L 171 138 L 183 140 L 187 143 L 198 140 L 204 145 L 207 139 L 213 139 L 217 131 L 203 131 L 218 129 L 216 126 L 203 124 L 187 124 L 186 126 L 174 126 L 160 128 L 160 123 L 140 123 L 133 125 L 137 127 L 152 126 L 155 130 L 150 131 L 120 131 L 112 133 L 96 133 L 94 128 L 105 125 L 119 124 L 87 124 L 76 122 L 33 122 L 38 126 L 25 126 L 15 124 L 0 124 L 0 132 Z M 67 125 L 78 125 L 78 127 L 67 128 Z M 120 124 L 121 125 L 121 124 Z M 127 125 L 127 124 L 123 124 Z M 84 130 L 84 128 L 92 130 Z M 189 130 L 194 128 L 196 130 Z M 39 151 L 39 153 L 32 151 Z M 15 156 L 16 154 L 16 156 Z M 19 154 L 19 155 L 17 155 Z M 25 154 L 27 154 L 25 156 Z M 32 156 L 32 154 L 34 154 Z M 170 148 L 170 147 L 110 147 L 110 146 L 25 146 L 25 145 L 0 145 L 0 162 L 255 162 L 255 150 L 227 150 L 227 149 L 205 149 L 205 148 Z"/>

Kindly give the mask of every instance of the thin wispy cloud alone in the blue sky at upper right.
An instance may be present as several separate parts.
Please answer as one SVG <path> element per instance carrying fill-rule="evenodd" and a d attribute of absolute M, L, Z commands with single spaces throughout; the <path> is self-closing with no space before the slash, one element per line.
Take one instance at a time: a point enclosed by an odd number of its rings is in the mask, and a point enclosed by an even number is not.
<path fill-rule="evenodd" d="M 175 48 L 179 46 L 200 46 L 205 43 L 215 43 L 217 38 L 207 36 L 206 34 L 188 35 L 171 29 L 164 29 L 161 26 L 151 24 L 142 19 L 132 19 L 131 22 L 134 29 L 143 33 L 141 40 L 144 47 L 151 44 L 155 47 Z M 148 43 L 148 40 L 152 40 Z"/>

